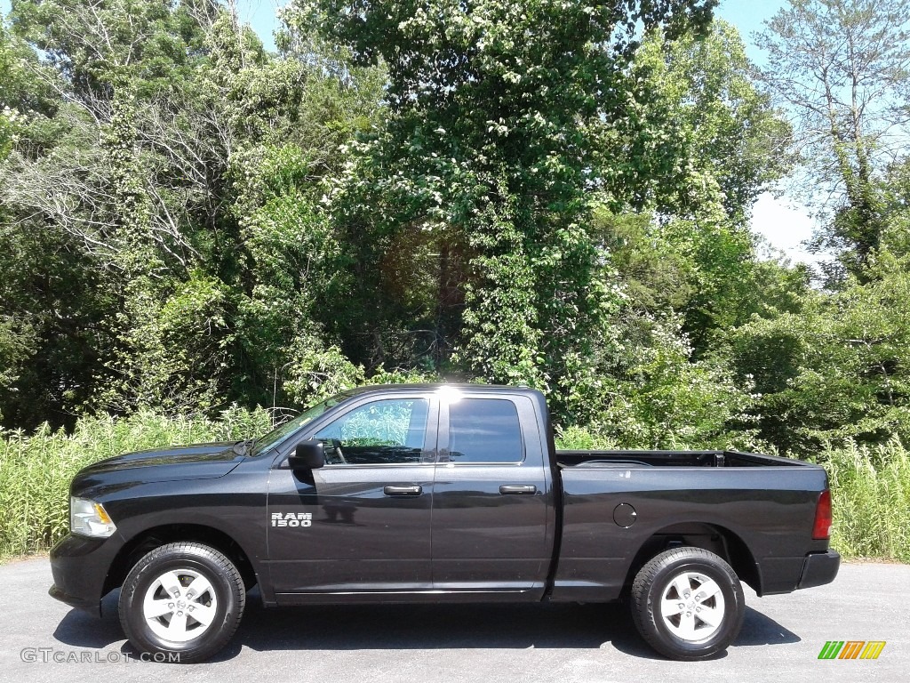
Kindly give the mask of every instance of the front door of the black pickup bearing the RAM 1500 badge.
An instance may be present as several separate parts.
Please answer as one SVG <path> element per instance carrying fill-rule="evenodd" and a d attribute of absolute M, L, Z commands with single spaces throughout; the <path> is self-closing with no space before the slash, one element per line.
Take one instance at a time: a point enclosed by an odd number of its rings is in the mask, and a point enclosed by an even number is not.
<path fill-rule="evenodd" d="M 268 556 L 279 604 L 432 586 L 430 408 L 426 395 L 356 403 L 304 435 L 325 443 L 324 467 L 271 471 Z"/>

